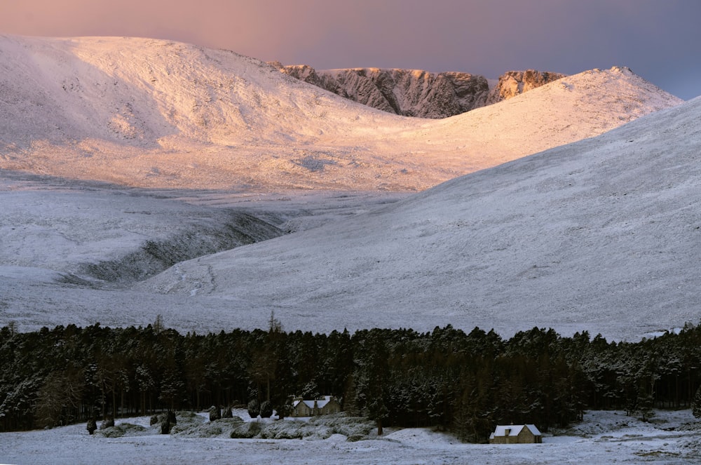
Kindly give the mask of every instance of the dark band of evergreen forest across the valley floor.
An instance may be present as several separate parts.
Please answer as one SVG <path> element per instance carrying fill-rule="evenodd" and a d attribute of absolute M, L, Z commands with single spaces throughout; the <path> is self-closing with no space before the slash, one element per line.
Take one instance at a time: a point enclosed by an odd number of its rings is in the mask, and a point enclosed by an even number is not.
<path fill-rule="evenodd" d="M 701 412 L 700 367 L 701 325 L 634 343 L 538 328 L 510 339 L 451 326 L 284 332 L 272 316 L 269 330 L 207 335 L 180 335 L 160 321 L 9 326 L 0 330 L 0 429 L 210 405 L 266 405 L 285 416 L 293 394 L 330 394 L 379 429 L 434 426 L 482 441 L 495 424 L 547 431 L 588 408 L 643 418 L 653 407 Z"/>

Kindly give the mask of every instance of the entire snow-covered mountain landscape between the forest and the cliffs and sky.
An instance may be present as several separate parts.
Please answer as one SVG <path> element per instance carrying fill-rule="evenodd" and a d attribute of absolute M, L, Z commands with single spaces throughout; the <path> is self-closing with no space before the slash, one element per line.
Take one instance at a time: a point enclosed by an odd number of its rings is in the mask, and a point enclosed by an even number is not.
<path fill-rule="evenodd" d="M 701 100 L 629 69 L 431 120 L 183 43 L 0 55 L 0 324 L 639 337 L 700 314 Z"/>

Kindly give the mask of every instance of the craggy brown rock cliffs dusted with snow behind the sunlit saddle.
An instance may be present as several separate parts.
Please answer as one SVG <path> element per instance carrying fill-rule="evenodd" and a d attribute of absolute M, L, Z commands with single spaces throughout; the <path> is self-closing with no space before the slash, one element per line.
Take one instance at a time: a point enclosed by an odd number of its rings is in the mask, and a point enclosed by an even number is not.
<path fill-rule="evenodd" d="M 384 112 L 420 118 L 447 118 L 515 97 L 564 74 L 510 71 L 494 88 L 484 76 L 418 69 L 349 68 L 317 71 L 308 65 L 271 65 L 301 81 Z"/>

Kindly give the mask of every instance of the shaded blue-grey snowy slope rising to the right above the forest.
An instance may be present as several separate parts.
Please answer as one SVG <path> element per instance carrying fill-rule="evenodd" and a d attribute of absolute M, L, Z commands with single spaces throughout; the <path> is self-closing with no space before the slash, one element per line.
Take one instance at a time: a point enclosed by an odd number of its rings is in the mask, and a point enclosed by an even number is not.
<path fill-rule="evenodd" d="M 697 323 L 700 119 L 695 99 L 384 210 L 182 263 L 139 290 L 245 295 L 319 330 L 639 337 Z"/>

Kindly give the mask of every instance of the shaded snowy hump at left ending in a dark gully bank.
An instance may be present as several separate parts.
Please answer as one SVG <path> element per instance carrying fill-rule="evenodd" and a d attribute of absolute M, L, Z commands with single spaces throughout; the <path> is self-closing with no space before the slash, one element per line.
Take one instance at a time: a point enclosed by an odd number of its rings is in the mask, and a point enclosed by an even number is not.
<path fill-rule="evenodd" d="M 59 280 L 134 281 L 283 234 L 252 215 L 129 191 L 12 189 L 0 198 L 0 276 L 50 270 Z"/>

